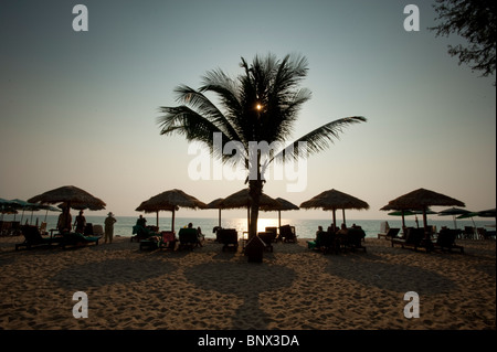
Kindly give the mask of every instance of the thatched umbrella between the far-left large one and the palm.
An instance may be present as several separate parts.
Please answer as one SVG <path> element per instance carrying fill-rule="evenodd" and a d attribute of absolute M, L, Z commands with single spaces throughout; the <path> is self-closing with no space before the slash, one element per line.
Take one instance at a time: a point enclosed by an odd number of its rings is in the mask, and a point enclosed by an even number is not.
<path fill-rule="evenodd" d="M 157 213 L 157 226 L 159 226 L 159 211 L 172 212 L 171 231 L 175 231 L 175 213 L 180 207 L 205 209 L 207 204 L 199 201 L 193 195 L 187 194 L 181 190 L 170 190 L 141 202 L 136 209 L 137 212 Z"/>

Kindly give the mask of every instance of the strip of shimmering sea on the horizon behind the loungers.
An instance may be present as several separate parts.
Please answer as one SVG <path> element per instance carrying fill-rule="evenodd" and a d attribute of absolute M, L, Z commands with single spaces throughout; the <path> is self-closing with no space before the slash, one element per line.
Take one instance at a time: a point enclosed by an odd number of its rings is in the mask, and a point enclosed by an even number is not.
<path fill-rule="evenodd" d="M 167 216 L 167 213 L 159 214 L 159 231 L 170 231 L 171 230 L 171 216 Z M 73 221 L 75 214 L 73 215 Z M 146 214 L 147 215 L 147 214 Z M 155 214 L 144 217 L 147 220 L 147 225 L 156 225 L 157 218 Z M 161 215 L 161 216 L 160 216 Z M 17 215 L 6 215 L 4 221 L 21 221 L 22 224 L 40 224 L 41 222 L 46 222 L 46 228 L 55 228 L 59 215 L 36 215 L 24 214 L 23 217 Z M 106 216 L 95 216 L 91 214 L 85 214 L 86 222 L 92 224 L 99 224 L 104 226 L 104 221 Z M 136 224 L 138 216 L 116 216 L 116 223 L 114 224 L 114 235 L 121 237 L 133 236 L 133 226 Z M 382 220 L 347 220 L 347 226 L 350 227 L 352 224 L 359 225 L 366 232 L 366 237 L 377 238 L 378 233 L 381 230 L 381 223 L 388 222 L 390 227 L 402 227 L 401 217 L 395 216 L 395 218 L 382 218 Z M 213 232 L 215 226 L 219 226 L 218 217 L 176 217 L 175 218 L 175 230 L 178 232 L 179 228 L 188 226 L 192 223 L 193 226 L 200 227 L 205 238 L 215 238 L 215 233 Z M 309 218 L 284 218 L 282 217 L 282 225 L 295 226 L 295 232 L 297 238 L 314 238 L 316 236 L 316 231 L 318 226 L 327 228 L 331 224 L 329 218 L 322 220 L 309 220 Z M 341 225 L 341 220 L 337 218 L 337 226 Z M 405 225 L 412 227 L 422 227 L 423 220 L 420 216 L 419 223 L 412 217 L 405 217 Z M 465 226 L 473 227 L 485 227 L 488 231 L 495 231 L 495 218 L 488 220 L 456 220 L 456 227 L 454 227 L 454 220 L 452 216 L 432 216 L 429 217 L 429 225 L 436 226 L 436 230 L 442 228 L 442 226 L 447 226 L 448 228 L 462 228 Z M 247 231 L 247 220 L 246 217 L 222 217 L 221 226 L 223 228 L 236 228 L 239 237 L 242 238 L 243 233 Z M 260 217 L 257 223 L 257 231 L 263 232 L 265 227 L 277 227 L 278 218 L 274 217 Z"/>

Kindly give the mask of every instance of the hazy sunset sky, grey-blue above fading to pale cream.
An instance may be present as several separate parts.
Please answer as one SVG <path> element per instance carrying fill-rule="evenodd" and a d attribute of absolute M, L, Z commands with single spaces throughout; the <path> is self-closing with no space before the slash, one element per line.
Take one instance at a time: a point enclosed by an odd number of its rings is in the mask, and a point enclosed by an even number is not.
<path fill-rule="evenodd" d="M 336 189 L 370 205 L 347 211 L 359 220 L 387 218 L 380 207 L 420 188 L 470 211 L 495 207 L 495 75 L 480 77 L 448 55 L 447 45 L 464 40 L 427 29 L 433 2 L 2 0 L 0 198 L 75 185 L 107 204 L 92 214 L 137 216 L 142 201 L 167 190 L 205 203 L 241 190 L 243 181 L 214 180 L 214 161 L 210 180 L 192 178 L 197 156 L 183 136 L 160 136 L 159 107 L 178 105 L 180 84 L 197 88 L 216 68 L 236 77 L 241 57 L 272 53 L 308 60 L 302 86 L 313 97 L 290 140 L 338 118 L 368 120 L 308 158 L 302 190 L 287 191 L 296 182 L 288 173 L 269 179 L 266 194 L 299 205 Z M 419 31 L 404 29 L 410 3 L 420 10 Z M 86 6 L 87 31 L 73 29 L 76 4 Z M 216 214 L 181 209 L 177 216 Z"/>

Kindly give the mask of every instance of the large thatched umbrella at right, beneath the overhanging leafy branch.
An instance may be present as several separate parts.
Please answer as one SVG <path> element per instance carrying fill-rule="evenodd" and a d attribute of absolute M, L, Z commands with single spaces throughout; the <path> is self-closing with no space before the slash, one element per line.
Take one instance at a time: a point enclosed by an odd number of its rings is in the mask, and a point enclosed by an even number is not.
<path fill-rule="evenodd" d="M 450 198 L 447 195 L 436 193 L 425 189 L 419 189 L 401 195 L 389 202 L 381 210 L 419 210 L 423 212 L 423 225 L 425 231 L 427 230 L 426 211 L 429 206 L 466 206 L 463 202 Z"/>

